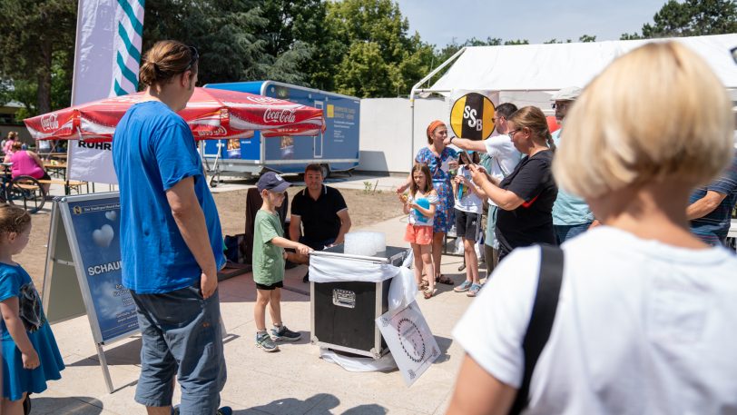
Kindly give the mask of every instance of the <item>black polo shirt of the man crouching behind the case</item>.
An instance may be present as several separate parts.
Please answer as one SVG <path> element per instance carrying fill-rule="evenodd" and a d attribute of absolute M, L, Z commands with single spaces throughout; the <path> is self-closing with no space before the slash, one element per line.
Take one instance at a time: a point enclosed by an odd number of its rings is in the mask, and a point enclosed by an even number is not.
<path fill-rule="evenodd" d="M 322 242 L 338 237 L 340 218 L 338 212 L 347 209 L 346 201 L 338 190 L 322 185 L 318 200 L 310 197 L 305 188 L 294 195 L 291 201 L 291 214 L 300 216 L 304 226 L 304 237 L 310 241 Z"/>

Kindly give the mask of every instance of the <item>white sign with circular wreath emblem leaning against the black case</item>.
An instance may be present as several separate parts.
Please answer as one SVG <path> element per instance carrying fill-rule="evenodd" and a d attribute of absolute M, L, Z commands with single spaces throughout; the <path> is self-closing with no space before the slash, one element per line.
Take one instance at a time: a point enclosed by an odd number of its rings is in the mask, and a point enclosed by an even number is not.
<path fill-rule="evenodd" d="M 440 356 L 440 348 L 417 301 L 382 314 L 376 323 L 405 382 L 411 386 Z"/>

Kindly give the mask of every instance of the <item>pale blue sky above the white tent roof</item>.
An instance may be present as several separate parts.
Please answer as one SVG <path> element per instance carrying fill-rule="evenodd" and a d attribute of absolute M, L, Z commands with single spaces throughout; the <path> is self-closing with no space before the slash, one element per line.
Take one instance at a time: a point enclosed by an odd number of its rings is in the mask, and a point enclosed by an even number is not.
<path fill-rule="evenodd" d="M 666 0 L 398 0 L 410 33 L 441 48 L 487 36 L 543 43 L 552 38 L 617 40 L 640 32 Z"/>

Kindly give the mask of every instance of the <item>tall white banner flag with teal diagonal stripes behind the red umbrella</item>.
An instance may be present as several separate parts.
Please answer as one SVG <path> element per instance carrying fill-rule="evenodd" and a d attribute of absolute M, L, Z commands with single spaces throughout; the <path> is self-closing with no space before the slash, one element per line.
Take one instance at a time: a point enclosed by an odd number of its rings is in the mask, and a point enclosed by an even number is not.
<path fill-rule="evenodd" d="M 143 0 L 80 0 L 72 105 L 133 94 L 138 87 Z M 110 143 L 69 145 L 68 177 L 118 183 Z"/>

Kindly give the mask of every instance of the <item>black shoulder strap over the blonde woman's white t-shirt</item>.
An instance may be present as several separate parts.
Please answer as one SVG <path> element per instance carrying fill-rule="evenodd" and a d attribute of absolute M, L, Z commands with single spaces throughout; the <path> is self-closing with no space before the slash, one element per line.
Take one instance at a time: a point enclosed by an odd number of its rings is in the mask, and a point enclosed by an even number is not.
<path fill-rule="evenodd" d="M 540 276 L 537 282 L 535 303 L 527 326 L 522 350 L 525 352 L 525 375 L 517 390 L 510 414 L 519 414 L 529 402 L 530 381 L 537 359 L 545 348 L 555 321 L 555 310 L 563 282 L 563 251 L 557 246 L 540 245 Z"/>

